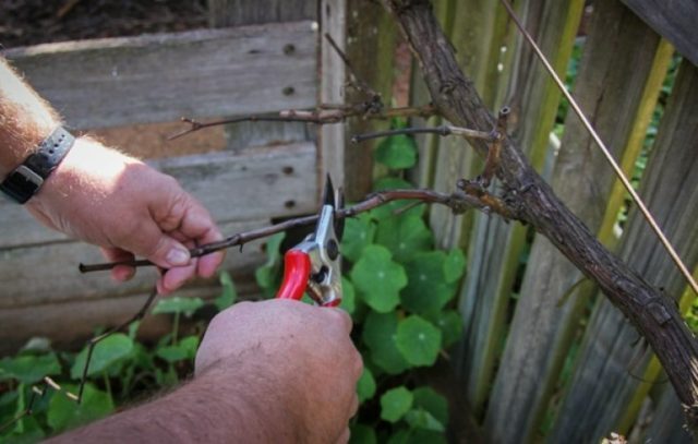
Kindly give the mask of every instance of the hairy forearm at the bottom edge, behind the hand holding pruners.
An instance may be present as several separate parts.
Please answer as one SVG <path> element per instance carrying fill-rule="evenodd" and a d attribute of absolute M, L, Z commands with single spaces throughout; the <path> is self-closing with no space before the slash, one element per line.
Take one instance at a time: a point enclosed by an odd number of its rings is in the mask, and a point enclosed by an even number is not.
<path fill-rule="evenodd" d="M 140 407 L 51 440 L 99 442 L 299 442 L 282 388 L 264 372 L 212 370 Z"/>

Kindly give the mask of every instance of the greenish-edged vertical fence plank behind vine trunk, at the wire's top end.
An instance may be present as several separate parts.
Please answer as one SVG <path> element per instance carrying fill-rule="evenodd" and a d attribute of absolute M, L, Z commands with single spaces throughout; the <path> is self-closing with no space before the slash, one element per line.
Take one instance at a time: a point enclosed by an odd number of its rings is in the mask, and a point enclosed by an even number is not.
<path fill-rule="evenodd" d="M 526 5 L 534 13 L 527 16 L 542 50 L 557 72 L 569 59 L 581 16 L 583 1 L 538 1 Z M 527 52 L 521 52 L 522 57 Z M 549 134 L 559 103 L 559 92 L 541 65 L 525 71 L 525 79 L 513 80 L 517 101 L 515 115 L 522 119 L 513 135 L 540 170 L 545 157 Z M 477 415 L 493 382 L 495 358 L 505 332 L 506 308 L 524 247 L 526 228 L 507 225 L 498 218 L 477 215 L 471 236 L 468 276 L 460 297 L 466 334 L 460 349 L 459 373 L 465 377 L 468 399 Z"/>

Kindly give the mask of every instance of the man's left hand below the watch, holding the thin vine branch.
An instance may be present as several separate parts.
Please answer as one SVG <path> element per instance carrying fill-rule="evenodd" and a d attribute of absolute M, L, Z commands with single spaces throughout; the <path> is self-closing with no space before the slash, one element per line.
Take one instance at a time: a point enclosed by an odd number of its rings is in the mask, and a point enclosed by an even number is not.
<path fill-rule="evenodd" d="M 89 139 L 75 141 L 27 206 L 48 227 L 101 247 L 109 261 L 139 255 L 168 268 L 157 281 L 160 293 L 213 276 L 222 262 L 221 252 L 190 257 L 188 248 L 221 235 L 174 179 Z M 118 266 L 112 276 L 127 280 L 134 273 Z"/>

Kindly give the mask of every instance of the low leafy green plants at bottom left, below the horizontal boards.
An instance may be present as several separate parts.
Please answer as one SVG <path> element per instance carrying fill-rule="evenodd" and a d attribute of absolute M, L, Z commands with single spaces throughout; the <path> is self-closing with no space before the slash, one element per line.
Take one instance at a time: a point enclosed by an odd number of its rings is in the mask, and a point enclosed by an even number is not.
<path fill-rule="evenodd" d="M 213 302 L 217 310 L 234 303 L 237 292 L 230 276 L 220 274 L 221 293 Z M 159 391 L 191 374 L 200 334 L 180 337 L 182 316 L 192 317 L 206 303 L 200 298 L 170 297 L 158 301 L 153 313 L 172 316 L 172 331 L 156 344 L 136 340 L 139 323 L 129 332 L 116 333 L 94 349 L 83 399 L 75 394 L 83 376 L 87 347 L 77 352 L 57 352 L 48 345 L 26 347 L 14 357 L 0 360 L 0 427 L 21 416 L 32 403 L 32 415 L 0 432 L 0 442 L 32 443 L 68 429 L 103 418 L 135 397 Z M 203 332 L 203 325 L 195 328 Z M 60 391 L 34 392 L 46 376 Z"/>

